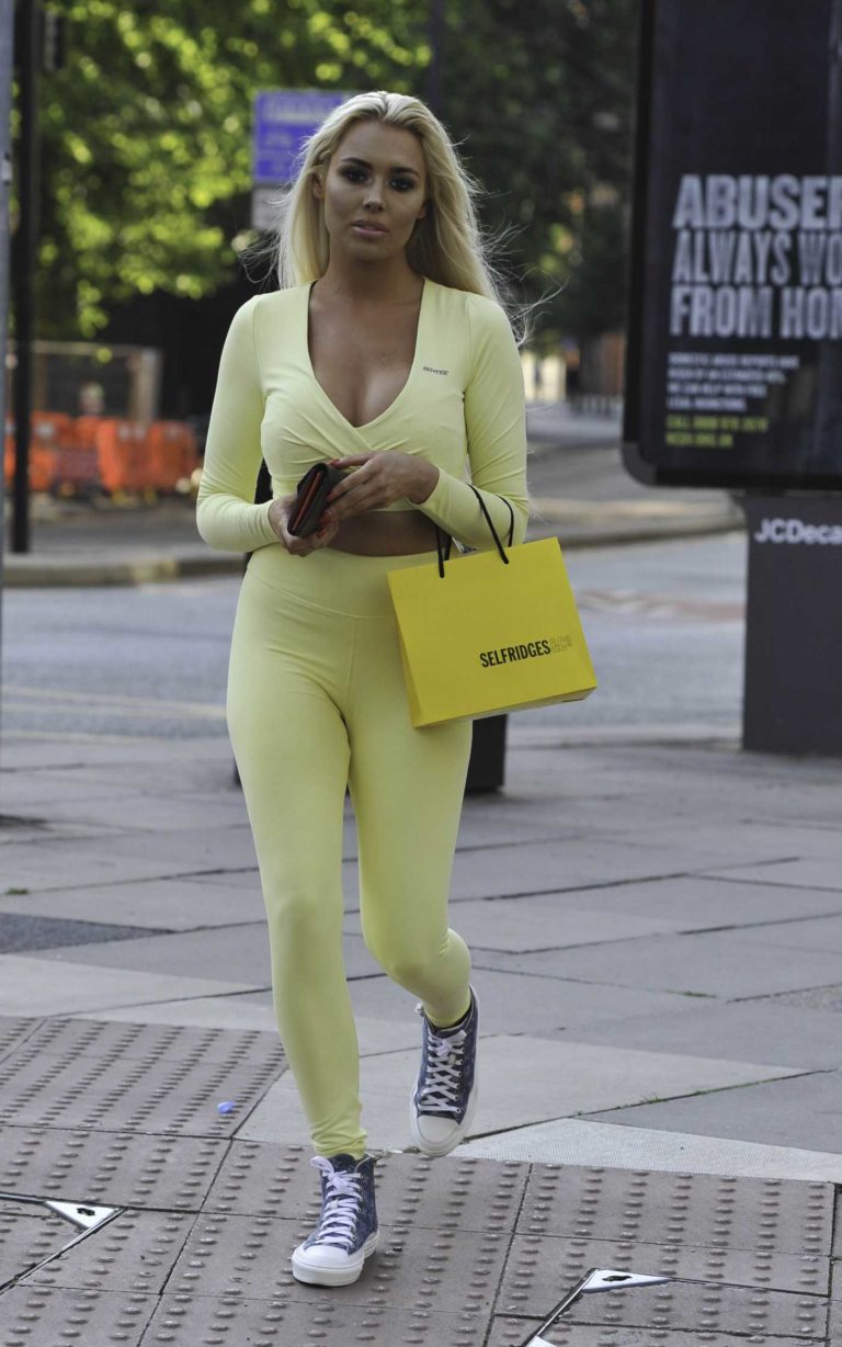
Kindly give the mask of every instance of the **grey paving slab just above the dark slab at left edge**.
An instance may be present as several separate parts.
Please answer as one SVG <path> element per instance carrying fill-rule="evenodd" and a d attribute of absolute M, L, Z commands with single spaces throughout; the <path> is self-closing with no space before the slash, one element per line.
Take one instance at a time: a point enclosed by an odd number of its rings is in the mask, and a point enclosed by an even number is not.
<path fill-rule="evenodd" d="M 261 921 L 264 917 L 256 872 L 242 885 L 225 881 L 140 880 L 136 884 L 31 890 L 0 897 L 0 912 L 108 921 L 112 925 L 160 927 L 170 931 L 237 925 L 242 921 Z"/>

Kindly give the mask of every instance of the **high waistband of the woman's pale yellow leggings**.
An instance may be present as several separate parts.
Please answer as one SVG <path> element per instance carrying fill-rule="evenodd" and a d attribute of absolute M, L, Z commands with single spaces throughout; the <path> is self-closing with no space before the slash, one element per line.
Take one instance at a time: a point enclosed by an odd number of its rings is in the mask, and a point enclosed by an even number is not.
<path fill-rule="evenodd" d="M 393 617 L 387 575 L 408 566 L 435 566 L 435 552 L 403 556 L 360 556 L 321 547 L 309 556 L 292 556 L 280 543 L 252 554 L 247 577 L 288 594 L 290 598 L 346 617 Z"/>

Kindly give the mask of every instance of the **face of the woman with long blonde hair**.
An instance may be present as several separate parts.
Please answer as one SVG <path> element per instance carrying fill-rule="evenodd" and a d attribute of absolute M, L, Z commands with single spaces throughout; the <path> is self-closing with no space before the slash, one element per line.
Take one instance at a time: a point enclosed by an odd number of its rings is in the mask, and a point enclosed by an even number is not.
<path fill-rule="evenodd" d="M 380 121 L 357 121 L 313 185 L 325 202 L 331 253 L 383 261 L 401 253 L 426 214 L 427 172 L 420 140 Z"/>

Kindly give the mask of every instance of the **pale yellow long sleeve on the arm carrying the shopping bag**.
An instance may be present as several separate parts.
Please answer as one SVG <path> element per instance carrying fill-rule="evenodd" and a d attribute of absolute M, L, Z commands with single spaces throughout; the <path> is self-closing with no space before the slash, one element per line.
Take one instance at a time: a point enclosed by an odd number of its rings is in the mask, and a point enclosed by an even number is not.
<path fill-rule="evenodd" d="M 515 541 L 527 532 L 525 397 L 520 356 L 503 308 L 470 295 L 466 306 L 472 372 L 465 388 L 467 459 L 473 485 L 481 492 L 498 535 L 508 537 L 515 516 Z M 500 500 L 503 497 L 503 500 Z M 461 543 L 478 550 L 494 546 L 469 484 L 439 469 L 426 501 L 418 505 Z"/>

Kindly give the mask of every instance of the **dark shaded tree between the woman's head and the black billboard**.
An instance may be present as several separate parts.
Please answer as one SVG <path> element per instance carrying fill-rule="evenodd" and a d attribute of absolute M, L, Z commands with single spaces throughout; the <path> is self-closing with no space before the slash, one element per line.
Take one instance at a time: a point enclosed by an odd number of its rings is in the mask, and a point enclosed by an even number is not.
<path fill-rule="evenodd" d="M 490 189 L 492 232 L 540 345 L 621 326 L 637 0 L 465 0 L 445 55 L 445 117 Z"/>

